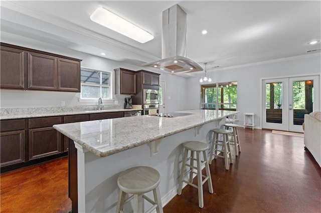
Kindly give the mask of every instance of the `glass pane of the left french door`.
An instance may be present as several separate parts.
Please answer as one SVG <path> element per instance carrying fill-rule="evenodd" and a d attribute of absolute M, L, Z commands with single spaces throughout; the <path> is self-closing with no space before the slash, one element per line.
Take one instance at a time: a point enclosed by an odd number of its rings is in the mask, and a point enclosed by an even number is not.
<path fill-rule="evenodd" d="M 283 123 L 282 103 L 283 103 L 283 83 L 268 82 L 265 84 L 266 90 L 266 122 Z"/>

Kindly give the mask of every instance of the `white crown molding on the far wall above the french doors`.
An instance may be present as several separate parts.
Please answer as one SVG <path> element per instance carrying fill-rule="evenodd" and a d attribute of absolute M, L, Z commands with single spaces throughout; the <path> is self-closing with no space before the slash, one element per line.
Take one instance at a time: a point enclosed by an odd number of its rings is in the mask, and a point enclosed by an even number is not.
<path fill-rule="evenodd" d="M 235 66 L 228 66 L 228 67 L 222 67 L 222 68 L 211 68 L 207 69 L 207 71 L 220 71 L 220 70 L 227 70 L 227 69 L 236 69 L 236 68 L 242 68 L 242 67 L 248 67 L 248 66 L 256 66 L 256 65 L 262 65 L 262 64 L 267 64 L 267 63 L 276 63 L 276 62 L 282 62 L 282 61 L 287 61 L 287 60 L 296 60 L 296 59 L 301 59 L 301 58 L 307 58 L 307 57 L 314 57 L 314 56 L 320 56 L 321 52 L 316 52 L 316 53 L 307 53 L 307 54 L 302 54 L 302 55 L 296 55 L 296 56 L 290 56 L 290 57 L 281 57 L 281 58 L 276 58 L 272 60 L 263 60 L 259 62 L 253 62 L 253 63 L 245 63 L 245 64 L 239 64 Z"/>

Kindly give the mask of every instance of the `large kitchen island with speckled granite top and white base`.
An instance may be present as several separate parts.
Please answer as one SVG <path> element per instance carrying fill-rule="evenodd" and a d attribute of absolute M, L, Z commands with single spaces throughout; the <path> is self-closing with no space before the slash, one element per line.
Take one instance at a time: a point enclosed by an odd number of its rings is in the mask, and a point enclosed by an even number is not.
<path fill-rule="evenodd" d="M 210 129 L 221 127 L 225 117 L 238 111 L 187 110 L 173 117 L 152 115 L 122 117 L 54 125 L 76 147 L 76 165 L 69 161 L 69 194 L 78 187 L 72 211 L 115 212 L 119 173 L 133 166 L 150 166 L 161 174 L 163 206 L 176 194 L 185 141 L 211 142 Z M 74 144 L 72 143 L 74 141 Z M 72 149 L 69 149 L 69 158 Z M 215 190 L 215 185 L 213 185 Z M 152 197 L 152 192 L 147 196 Z M 75 206 L 75 204 L 77 206 Z M 147 209 L 150 203 L 145 203 Z M 125 212 L 132 211 L 127 204 Z"/>

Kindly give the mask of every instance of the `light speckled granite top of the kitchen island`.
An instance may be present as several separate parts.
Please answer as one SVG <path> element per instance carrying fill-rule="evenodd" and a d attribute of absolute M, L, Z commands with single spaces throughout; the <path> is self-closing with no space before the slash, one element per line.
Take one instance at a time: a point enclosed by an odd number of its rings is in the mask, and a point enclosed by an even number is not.
<path fill-rule="evenodd" d="M 180 112 L 189 114 L 121 117 L 56 124 L 54 128 L 97 156 L 104 157 L 238 113 L 209 109 Z"/>

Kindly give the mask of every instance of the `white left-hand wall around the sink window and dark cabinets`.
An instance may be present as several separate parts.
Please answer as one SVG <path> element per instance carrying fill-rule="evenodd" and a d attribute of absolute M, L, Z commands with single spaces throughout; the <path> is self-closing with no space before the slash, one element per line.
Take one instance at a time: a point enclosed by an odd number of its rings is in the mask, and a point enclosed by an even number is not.
<path fill-rule="evenodd" d="M 35 42 L 33 39 L 26 38 L 15 38 L 11 40 L 2 40 L 2 42 L 7 42 L 15 45 L 25 46 L 28 48 L 39 49 L 47 52 L 52 52 L 56 54 L 66 55 L 74 58 L 80 58 L 81 66 L 112 71 L 113 69 L 122 67 L 132 70 L 149 70 L 146 67 L 139 67 L 131 65 L 128 63 L 123 63 L 115 60 L 106 59 L 103 57 L 74 51 L 69 48 L 64 48 L 62 46 L 52 45 L 49 43 L 44 43 L 41 41 Z M 150 70 L 157 72 L 155 70 Z M 177 111 L 186 109 L 188 101 L 183 97 L 186 96 L 186 78 L 180 76 L 174 76 L 167 72 L 161 73 L 160 79 L 167 81 L 167 94 L 171 97 L 167 101 L 167 107 L 169 111 Z M 113 89 L 113 93 L 114 93 Z M 128 95 L 113 95 L 113 99 L 117 100 L 120 105 L 123 104 L 124 97 Z M 61 101 L 65 101 L 66 106 L 75 105 L 96 105 L 97 101 L 85 101 L 79 102 L 80 93 L 75 92 L 58 92 L 58 91 L 35 91 L 35 90 L 12 90 L 12 89 L 1 89 L 1 107 L 46 107 L 46 106 L 61 106 Z M 114 101 L 108 101 L 104 104 L 114 104 Z"/>

